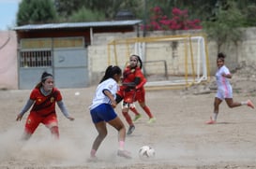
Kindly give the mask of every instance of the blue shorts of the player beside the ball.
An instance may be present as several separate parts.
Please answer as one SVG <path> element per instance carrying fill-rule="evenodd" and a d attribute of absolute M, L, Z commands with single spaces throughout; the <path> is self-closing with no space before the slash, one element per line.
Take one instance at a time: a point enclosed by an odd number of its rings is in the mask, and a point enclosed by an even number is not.
<path fill-rule="evenodd" d="M 102 120 L 107 122 L 117 117 L 113 107 L 109 104 L 101 104 L 92 109 L 90 113 L 94 123 L 98 123 Z"/>

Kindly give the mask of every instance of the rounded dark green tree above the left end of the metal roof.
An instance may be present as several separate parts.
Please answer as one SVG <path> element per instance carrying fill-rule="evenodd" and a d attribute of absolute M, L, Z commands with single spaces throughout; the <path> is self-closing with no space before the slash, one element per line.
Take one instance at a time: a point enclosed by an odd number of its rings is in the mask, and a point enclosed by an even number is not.
<path fill-rule="evenodd" d="M 52 0 L 23 0 L 19 4 L 17 25 L 45 23 L 56 20 L 56 11 Z"/>

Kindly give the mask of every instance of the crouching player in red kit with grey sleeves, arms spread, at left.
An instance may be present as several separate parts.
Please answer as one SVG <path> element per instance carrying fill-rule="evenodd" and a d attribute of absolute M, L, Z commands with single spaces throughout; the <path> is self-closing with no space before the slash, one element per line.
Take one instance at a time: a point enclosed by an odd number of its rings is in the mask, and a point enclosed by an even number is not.
<path fill-rule="evenodd" d="M 68 120 L 74 120 L 68 114 L 68 109 L 62 101 L 61 92 L 54 87 L 53 75 L 44 72 L 41 76 L 41 81 L 30 93 L 30 97 L 18 114 L 16 120 L 22 120 L 26 111 L 30 110 L 25 123 L 23 139 L 27 140 L 38 128 L 39 123 L 43 123 L 50 129 L 55 138 L 59 138 L 58 120 L 55 111 L 55 103 L 59 106 L 62 113 Z"/>

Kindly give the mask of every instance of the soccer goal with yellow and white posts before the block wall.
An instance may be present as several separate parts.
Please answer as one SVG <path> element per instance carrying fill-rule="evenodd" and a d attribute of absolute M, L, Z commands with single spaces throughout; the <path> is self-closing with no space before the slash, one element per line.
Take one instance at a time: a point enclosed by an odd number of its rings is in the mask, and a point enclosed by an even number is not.
<path fill-rule="evenodd" d="M 184 88 L 210 78 L 204 35 L 135 37 L 108 43 L 109 64 L 124 67 L 131 54 L 143 61 L 148 89 Z"/>

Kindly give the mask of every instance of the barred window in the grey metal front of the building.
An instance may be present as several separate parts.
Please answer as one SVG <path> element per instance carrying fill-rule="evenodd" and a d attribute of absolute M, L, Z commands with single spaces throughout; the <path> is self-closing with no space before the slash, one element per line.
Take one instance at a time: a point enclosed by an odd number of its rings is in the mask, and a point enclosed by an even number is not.
<path fill-rule="evenodd" d="M 52 51 L 22 51 L 20 67 L 45 67 L 52 66 Z"/>

